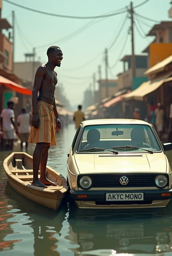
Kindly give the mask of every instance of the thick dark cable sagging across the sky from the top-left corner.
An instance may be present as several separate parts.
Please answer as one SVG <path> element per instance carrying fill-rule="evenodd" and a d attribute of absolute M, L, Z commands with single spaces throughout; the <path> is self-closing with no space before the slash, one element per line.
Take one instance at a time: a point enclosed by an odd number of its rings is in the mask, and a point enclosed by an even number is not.
<path fill-rule="evenodd" d="M 5 2 L 7 2 L 9 4 L 12 4 L 12 5 L 15 5 L 17 7 L 20 7 L 22 9 L 28 10 L 28 11 L 32 11 L 32 12 L 36 12 L 36 13 L 41 13 L 41 14 L 49 15 L 49 16 L 55 16 L 55 17 L 61 17 L 61 18 L 70 18 L 70 19 L 100 19 L 100 18 L 112 17 L 112 16 L 115 16 L 115 15 L 119 15 L 121 13 L 127 12 L 127 11 L 120 11 L 120 12 L 110 13 L 110 14 L 107 14 L 107 15 L 83 16 L 82 17 L 82 16 L 61 15 L 61 14 L 43 12 L 43 11 L 39 11 L 39 10 L 36 10 L 36 9 L 32 9 L 32 8 L 26 7 L 24 5 L 13 3 L 13 2 L 11 2 L 9 0 L 3 0 L 3 1 L 5 1 Z"/>

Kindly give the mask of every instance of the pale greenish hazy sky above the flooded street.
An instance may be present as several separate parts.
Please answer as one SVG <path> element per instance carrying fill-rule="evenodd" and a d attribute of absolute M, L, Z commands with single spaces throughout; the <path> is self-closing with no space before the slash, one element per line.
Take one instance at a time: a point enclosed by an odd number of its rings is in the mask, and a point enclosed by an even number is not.
<path fill-rule="evenodd" d="M 130 4 L 129 0 L 11 1 L 40 11 L 71 16 L 96 16 L 107 14 Z M 144 0 L 133 0 L 133 5 L 138 5 L 143 1 Z M 171 7 L 169 2 L 170 0 L 150 0 L 143 6 L 136 8 L 135 12 L 157 21 L 170 20 L 168 18 L 168 9 Z M 61 63 L 61 67 L 56 68 L 58 81 L 63 83 L 67 98 L 69 98 L 71 104 L 80 104 L 83 99 L 84 90 L 88 88 L 90 82 L 93 81 L 92 76 L 94 72 L 96 72 L 96 78 L 98 79 L 97 70 L 99 64 L 102 65 L 102 78 L 105 77 L 105 63 L 102 61 L 103 53 L 105 47 L 109 47 L 114 40 L 126 13 L 106 19 L 66 19 L 27 11 L 3 1 L 2 17 L 8 18 L 10 22 L 12 21 L 12 10 L 15 11 L 17 24 L 19 24 L 19 29 L 16 27 L 15 34 L 15 61 L 24 61 L 24 53 L 32 52 L 32 48 L 36 47 L 36 60 L 38 60 L 38 56 L 40 56 L 41 62 L 45 63 L 47 61 L 46 50 L 48 47 L 51 45 L 60 46 L 64 54 L 64 59 Z M 142 18 L 140 19 L 147 25 L 150 25 L 150 27 L 156 24 L 151 21 L 143 20 Z M 85 24 L 90 22 L 91 26 L 89 28 L 82 28 Z M 150 30 L 146 25 L 140 24 L 145 33 Z M 119 57 L 129 25 L 130 19 L 127 19 L 114 47 L 108 52 L 109 66 L 112 66 Z M 137 26 L 139 27 L 139 25 Z M 79 28 L 82 28 L 82 33 L 79 34 L 77 32 L 74 37 L 71 35 L 68 36 Z M 153 37 L 142 38 L 136 29 L 134 32 L 135 53 L 140 54 L 153 40 Z M 142 31 L 140 31 L 140 33 L 143 34 Z M 62 38 L 64 39 L 61 40 Z M 37 48 L 37 46 L 42 45 L 44 47 Z M 128 38 L 122 57 L 126 54 L 131 54 L 131 36 Z M 94 57 L 97 58 L 89 64 L 86 64 L 90 60 L 93 60 Z M 119 61 L 118 65 L 112 69 L 113 78 L 115 79 L 116 74 L 122 71 L 122 62 Z M 111 78 L 110 73 L 108 77 Z"/>

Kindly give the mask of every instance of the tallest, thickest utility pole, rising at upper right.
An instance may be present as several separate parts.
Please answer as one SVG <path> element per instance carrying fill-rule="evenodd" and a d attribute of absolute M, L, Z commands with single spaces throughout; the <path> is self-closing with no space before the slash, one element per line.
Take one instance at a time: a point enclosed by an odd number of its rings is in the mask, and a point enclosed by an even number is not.
<path fill-rule="evenodd" d="M 133 19 L 133 6 L 130 2 L 130 14 L 131 14 L 131 45 L 132 45 L 132 58 L 131 58 L 131 67 L 132 67 L 132 78 L 136 76 L 136 64 L 135 64 L 135 54 L 134 54 L 134 19 Z"/>

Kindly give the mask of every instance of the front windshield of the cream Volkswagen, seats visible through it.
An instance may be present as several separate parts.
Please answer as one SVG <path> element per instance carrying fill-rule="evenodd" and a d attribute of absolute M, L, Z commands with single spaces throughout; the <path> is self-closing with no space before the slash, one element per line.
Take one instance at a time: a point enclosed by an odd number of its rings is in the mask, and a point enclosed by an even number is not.
<path fill-rule="evenodd" d="M 125 146 L 139 147 L 139 149 Z M 94 147 L 103 149 L 102 152 L 106 152 L 105 149 L 114 149 L 119 153 L 146 152 L 142 149 L 153 152 L 161 151 L 160 145 L 151 127 L 148 125 L 123 124 L 86 126 L 79 140 L 77 152 L 80 151 L 79 153 L 90 154 L 93 153 L 93 151 L 89 152 L 86 149 L 93 149 Z"/>

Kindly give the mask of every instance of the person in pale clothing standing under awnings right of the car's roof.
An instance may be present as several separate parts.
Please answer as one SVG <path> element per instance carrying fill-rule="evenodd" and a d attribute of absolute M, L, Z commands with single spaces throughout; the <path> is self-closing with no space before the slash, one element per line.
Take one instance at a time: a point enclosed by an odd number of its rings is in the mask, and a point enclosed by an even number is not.
<path fill-rule="evenodd" d="M 157 103 L 157 108 L 155 109 L 155 125 L 158 137 L 161 139 L 164 126 L 164 110 L 161 106 L 161 103 Z"/>

